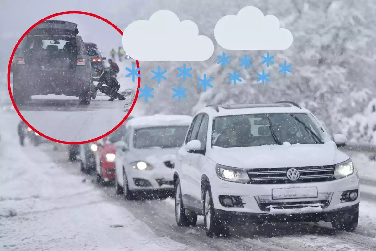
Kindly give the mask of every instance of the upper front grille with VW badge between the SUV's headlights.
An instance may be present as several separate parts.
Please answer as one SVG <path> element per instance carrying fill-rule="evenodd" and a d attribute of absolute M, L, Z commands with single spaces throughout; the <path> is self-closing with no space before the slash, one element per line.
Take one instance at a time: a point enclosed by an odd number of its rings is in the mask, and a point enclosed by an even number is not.
<path fill-rule="evenodd" d="M 300 177 L 297 181 L 290 181 L 287 178 L 287 170 L 297 169 Z M 285 183 L 306 183 L 323 182 L 334 180 L 334 168 L 332 166 L 305 166 L 305 167 L 279 167 L 279 168 L 258 168 L 247 171 L 251 184 L 285 184 Z"/>

